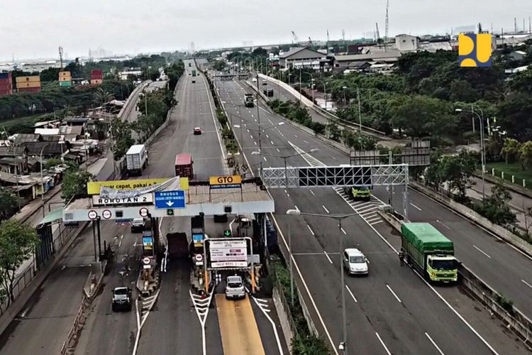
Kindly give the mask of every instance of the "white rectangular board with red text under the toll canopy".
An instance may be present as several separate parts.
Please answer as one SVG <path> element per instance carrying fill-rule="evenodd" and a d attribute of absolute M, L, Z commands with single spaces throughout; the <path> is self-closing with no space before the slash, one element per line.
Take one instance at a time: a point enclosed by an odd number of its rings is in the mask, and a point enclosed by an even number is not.
<path fill-rule="evenodd" d="M 245 240 L 209 241 L 211 268 L 245 268 L 248 247 Z"/>

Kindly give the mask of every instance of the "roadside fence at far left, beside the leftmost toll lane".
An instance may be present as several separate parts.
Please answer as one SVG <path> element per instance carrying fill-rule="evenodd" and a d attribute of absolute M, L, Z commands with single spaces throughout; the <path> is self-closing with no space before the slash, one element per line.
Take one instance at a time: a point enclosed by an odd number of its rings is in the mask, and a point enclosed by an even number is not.
<path fill-rule="evenodd" d="M 55 253 L 57 253 L 57 251 L 60 251 L 63 246 L 65 246 L 67 241 L 69 241 L 72 236 L 76 234 L 79 228 L 81 227 L 72 228 L 63 225 L 62 223 L 59 224 L 58 228 L 55 229 L 52 234 Z M 22 291 L 28 287 L 33 278 L 35 278 L 35 275 L 37 275 L 37 266 L 35 265 L 35 258 L 32 256 L 30 260 L 31 261 L 26 266 L 26 268 L 24 268 L 23 271 L 19 272 L 18 275 L 16 275 L 16 279 L 13 281 L 14 300 L 16 300 L 19 295 L 21 295 Z M 52 260 L 52 258 L 48 259 L 47 262 L 50 262 L 50 260 Z M 43 265 L 41 265 L 40 267 L 42 267 Z M 2 299 L 0 303 L 0 317 L 4 315 L 4 313 L 8 310 L 9 306 L 13 302 L 10 302 L 7 292 L 4 288 L 2 288 L 2 291 L 3 293 L 1 295 Z"/>

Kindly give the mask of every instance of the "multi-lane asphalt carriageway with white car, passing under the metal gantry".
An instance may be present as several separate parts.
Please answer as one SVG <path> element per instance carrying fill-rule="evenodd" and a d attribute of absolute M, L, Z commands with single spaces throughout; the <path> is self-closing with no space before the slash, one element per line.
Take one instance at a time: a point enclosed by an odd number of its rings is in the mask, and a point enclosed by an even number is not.
<path fill-rule="evenodd" d="M 233 115 L 233 124 L 243 120 L 240 123 L 246 125 L 242 132 L 236 129 L 235 134 L 241 140 L 250 165 L 256 167 L 261 157 L 250 153 L 257 151 L 257 133 L 253 131 L 258 123 L 257 109 L 241 106 L 245 92 L 243 83 L 218 81 L 217 85 L 228 114 Z M 272 126 L 278 124 L 279 119 L 260 109 L 260 122 Z M 276 126 L 262 134 L 264 154 L 297 153 L 290 143 L 302 151 L 311 148 L 319 151 L 306 155 L 306 159 L 290 158 L 289 165 L 348 163 L 343 153 L 289 124 Z M 281 158 L 262 157 L 263 167 L 281 167 L 283 164 Z M 270 191 L 276 204 L 275 223 L 284 236 L 284 240 L 279 238 L 279 244 L 287 249 L 284 241 L 291 229 L 297 283 L 318 332 L 335 348 L 342 334 L 338 275 L 340 234 L 345 247 L 359 247 L 370 260 L 368 278 L 346 278 L 345 281 L 348 344 L 356 344 L 350 348 L 356 349 L 356 354 L 387 354 L 387 351 L 392 354 L 438 354 L 439 351 L 444 354 L 487 354 L 490 349 L 499 354 L 505 354 L 506 349 L 523 352 L 521 346 L 515 346 L 512 337 L 499 330 L 500 324 L 490 320 L 487 312 L 475 310 L 479 305 L 462 295 L 458 288 L 443 288 L 444 297 L 438 288 L 426 285 L 409 268 L 399 267 L 397 254 L 386 243 L 388 239 L 397 241 L 399 238 L 375 212 L 381 202 L 373 200 L 365 206 L 351 207 L 331 188 Z M 345 220 L 344 234 L 331 219 L 283 214 L 286 209 L 294 208 L 322 214 L 358 211 L 364 213 L 364 218 Z M 377 231 L 377 226 L 385 230 Z"/>

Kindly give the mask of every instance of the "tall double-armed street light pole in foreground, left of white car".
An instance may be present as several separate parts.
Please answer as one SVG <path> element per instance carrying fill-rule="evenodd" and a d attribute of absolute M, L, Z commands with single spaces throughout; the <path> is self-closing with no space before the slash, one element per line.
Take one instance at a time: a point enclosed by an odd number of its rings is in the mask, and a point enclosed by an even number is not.
<path fill-rule="evenodd" d="M 335 219 L 336 222 L 338 222 L 338 247 L 340 255 L 339 261 L 340 261 L 340 288 L 342 289 L 342 342 L 339 344 L 340 350 L 343 350 L 343 354 L 348 354 L 348 325 L 347 320 L 345 316 L 345 276 L 343 272 L 343 236 L 342 236 L 342 221 L 346 218 L 358 216 L 360 213 L 350 213 L 350 214 L 316 214 L 316 213 L 305 213 L 299 211 L 299 209 L 289 209 L 287 210 L 286 214 L 288 215 L 294 215 L 294 216 L 311 216 L 311 217 L 326 217 L 326 218 L 332 218 Z M 292 248 L 289 250 L 289 258 L 292 261 Z M 291 283 L 293 283 L 293 274 L 292 270 L 290 270 L 290 280 Z"/>

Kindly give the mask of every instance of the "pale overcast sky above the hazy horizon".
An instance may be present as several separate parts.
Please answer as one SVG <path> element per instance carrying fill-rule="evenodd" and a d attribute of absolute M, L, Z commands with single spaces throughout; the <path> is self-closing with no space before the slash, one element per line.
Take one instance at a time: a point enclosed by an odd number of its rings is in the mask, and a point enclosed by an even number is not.
<path fill-rule="evenodd" d="M 8 2 L 9 1 L 9 2 Z M 379 23 L 386 0 L 2 0 L 0 61 L 57 56 L 89 48 L 114 54 L 299 40 L 360 38 Z M 532 16 L 532 0 L 390 0 L 389 35 L 445 33 L 481 22 L 513 30 Z"/>

